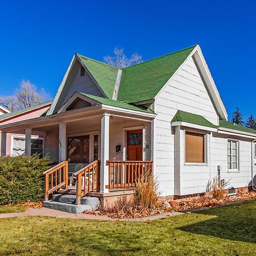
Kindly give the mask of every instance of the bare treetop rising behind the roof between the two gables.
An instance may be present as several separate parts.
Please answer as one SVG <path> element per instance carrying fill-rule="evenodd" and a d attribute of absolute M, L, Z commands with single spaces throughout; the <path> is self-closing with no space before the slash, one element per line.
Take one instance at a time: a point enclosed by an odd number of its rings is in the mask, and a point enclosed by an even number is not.
<path fill-rule="evenodd" d="M 126 68 L 142 62 L 142 56 L 137 52 L 131 55 L 130 59 L 124 53 L 124 48 L 114 48 L 114 56 L 104 56 L 104 62 L 118 68 Z"/>

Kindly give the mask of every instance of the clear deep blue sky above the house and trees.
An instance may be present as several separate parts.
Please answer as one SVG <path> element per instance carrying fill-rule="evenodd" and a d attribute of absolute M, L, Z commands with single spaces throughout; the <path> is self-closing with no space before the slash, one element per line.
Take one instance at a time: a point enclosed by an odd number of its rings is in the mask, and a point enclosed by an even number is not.
<path fill-rule="evenodd" d="M 75 52 L 152 59 L 200 44 L 229 117 L 256 118 L 256 2 L 0 1 L 0 94 L 22 79 L 53 97 Z"/>

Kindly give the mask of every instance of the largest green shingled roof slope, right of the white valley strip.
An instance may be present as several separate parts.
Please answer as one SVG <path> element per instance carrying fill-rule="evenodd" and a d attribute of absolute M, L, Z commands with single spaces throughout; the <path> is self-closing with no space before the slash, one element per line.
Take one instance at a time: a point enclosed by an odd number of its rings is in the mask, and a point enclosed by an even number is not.
<path fill-rule="evenodd" d="M 195 47 L 124 68 L 118 100 L 138 102 L 154 98 Z"/>

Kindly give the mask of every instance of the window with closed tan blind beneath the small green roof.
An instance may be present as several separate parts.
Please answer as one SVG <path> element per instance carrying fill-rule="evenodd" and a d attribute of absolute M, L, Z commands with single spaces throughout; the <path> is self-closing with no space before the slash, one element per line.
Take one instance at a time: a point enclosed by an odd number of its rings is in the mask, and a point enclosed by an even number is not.
<path fill-rule="evenodd" d="M 185 132 L 185 162 L 205 163 L 205 135 Z"/>

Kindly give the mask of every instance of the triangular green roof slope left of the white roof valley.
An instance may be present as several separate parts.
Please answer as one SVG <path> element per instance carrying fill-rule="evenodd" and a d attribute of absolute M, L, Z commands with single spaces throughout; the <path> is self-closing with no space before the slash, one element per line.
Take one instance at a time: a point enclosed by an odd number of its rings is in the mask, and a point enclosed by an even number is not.
<path fill-rule="evenodd" d="M 84 63 L 85 67 L 101 86 L 101 89 L 104 91 L 106 96 L 112 99 L 118 68 L 112 67 L 97 60 L 92 60 L 79 54 L 77 54 L 77 56 L 79 56 L 82 63 Z"/>

